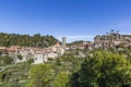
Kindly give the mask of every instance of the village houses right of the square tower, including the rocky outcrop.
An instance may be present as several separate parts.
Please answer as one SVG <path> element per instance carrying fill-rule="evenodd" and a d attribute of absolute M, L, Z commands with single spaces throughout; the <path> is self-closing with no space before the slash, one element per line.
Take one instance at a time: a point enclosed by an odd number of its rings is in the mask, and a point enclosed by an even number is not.
<path fill-rule="evenodd" d="M 131 35 L 121 35 L 119 32 L 111 30 L 106 35 L 96 35 L 94 41 L 81 41 L 76 45 L 71 45 L 70 49 L 109 49 L 122 50 L 123 48 L 131 48 Z"/>

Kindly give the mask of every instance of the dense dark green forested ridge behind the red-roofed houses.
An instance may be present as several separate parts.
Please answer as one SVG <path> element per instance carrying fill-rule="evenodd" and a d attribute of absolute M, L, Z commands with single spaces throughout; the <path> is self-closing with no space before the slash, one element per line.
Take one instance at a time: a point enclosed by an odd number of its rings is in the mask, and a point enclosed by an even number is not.
<path fill-rule="evenodd" d="M 55 45 L 58 40 L 53 36 L 41 36 L 40 34 L 20 35 L 20 34 L 5 34 L 0 33 L 0 46 L 24 46 L 24 47 L 48 47 Z"/>

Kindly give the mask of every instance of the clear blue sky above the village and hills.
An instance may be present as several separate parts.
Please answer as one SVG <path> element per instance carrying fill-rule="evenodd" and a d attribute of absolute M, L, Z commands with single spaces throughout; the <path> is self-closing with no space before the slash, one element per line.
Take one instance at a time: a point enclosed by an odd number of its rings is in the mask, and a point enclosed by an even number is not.
<path fill-rule="evenodd" d="M 131 0 L 0 0 L 0 32 L 93 40 L 110 29 L 131 35 Z"/>

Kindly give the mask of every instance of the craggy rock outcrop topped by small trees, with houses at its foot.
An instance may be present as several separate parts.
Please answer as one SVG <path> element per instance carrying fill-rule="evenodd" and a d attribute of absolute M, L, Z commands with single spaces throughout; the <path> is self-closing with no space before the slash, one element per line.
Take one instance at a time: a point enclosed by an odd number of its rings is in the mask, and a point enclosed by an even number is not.
<path fill-rule="evenodd" d="M 122 48 L 131 48 L 131 35 L 121 35 L 117 30 L 116 33 L 111 30 L 106 35 L 97 35 L 94 38 L 94 48 L 114 48 L 117 50 L 122 50 Z"/>

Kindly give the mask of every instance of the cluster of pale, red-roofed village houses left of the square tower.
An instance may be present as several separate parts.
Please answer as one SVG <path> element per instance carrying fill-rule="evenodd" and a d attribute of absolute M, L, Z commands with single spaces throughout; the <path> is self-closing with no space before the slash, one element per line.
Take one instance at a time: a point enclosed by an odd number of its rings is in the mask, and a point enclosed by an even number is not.
<path fill-rule="evenodd" d="M 33 48 L 33 47 L 20 47 L 11 46 L 10 48 L 0 47 L 0 55 L 10 55 L 15 63 L 24 62 L 29 59 L 34 60 L 34 64 L 39 64 L 48 61 L 48 58 L 55 59 L 64 53 L 64 46 L 57 42 L 48 48 Z M 22 55 L 22 60 L 17 59 L 17 55 Z"/>

